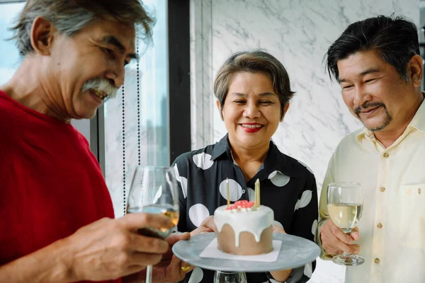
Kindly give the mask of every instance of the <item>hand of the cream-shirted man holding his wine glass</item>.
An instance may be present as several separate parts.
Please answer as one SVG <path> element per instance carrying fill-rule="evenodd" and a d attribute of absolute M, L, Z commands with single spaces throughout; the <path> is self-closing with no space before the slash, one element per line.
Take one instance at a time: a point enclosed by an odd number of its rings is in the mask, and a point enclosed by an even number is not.
<path fill-rule="evenodd" d="M 353 241 L 357 241 L 359 238 L 358 227 L 355 227 L 347 235 L 331 219 L 320 229 L 322 247 L 329 255 L 340 255 L 343 252 L 358 255 L 360 253 L 360 246 L 353 244 Z"/>

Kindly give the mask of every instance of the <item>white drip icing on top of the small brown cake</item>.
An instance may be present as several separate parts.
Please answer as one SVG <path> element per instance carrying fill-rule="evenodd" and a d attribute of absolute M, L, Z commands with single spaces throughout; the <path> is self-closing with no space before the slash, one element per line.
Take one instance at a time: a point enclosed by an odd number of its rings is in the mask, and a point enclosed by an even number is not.
<path fill-rule="evenodd" d="M 217 231 L 221 232 L 225 224 L 229 224 L 234 231 L 234 246 L 239 247 L 240 233 L 247 231 L 254 235 L 255 241 L 261 240 L 261 234 L 274 222 L 273 210 L 261 205 L 254 209 L 229 209 L 227 205 L 218 207 L 214 212 L 214 221 Z"/>

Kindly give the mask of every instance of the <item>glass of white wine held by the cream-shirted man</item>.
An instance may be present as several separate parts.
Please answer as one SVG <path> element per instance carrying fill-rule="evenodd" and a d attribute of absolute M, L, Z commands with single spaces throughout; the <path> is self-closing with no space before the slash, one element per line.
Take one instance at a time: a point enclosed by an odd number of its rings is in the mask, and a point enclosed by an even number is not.
<path fill-rule="evenodd" d="M 327 208 L 331 220 L 344 233 L 351 233 L 361 219 L 363 192 L 359 183 L 331 183 L 327 187 Z M 360 255 L 343 253 L 332 261 L 339 265 L 361 265 L 365 262 Z"/>

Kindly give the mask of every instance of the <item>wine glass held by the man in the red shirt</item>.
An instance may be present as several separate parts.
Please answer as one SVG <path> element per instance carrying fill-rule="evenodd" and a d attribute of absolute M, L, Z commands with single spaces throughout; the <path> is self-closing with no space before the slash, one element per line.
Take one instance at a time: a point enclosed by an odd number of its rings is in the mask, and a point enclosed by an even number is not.
<path fill-rule="evenodd" d="M 179 192 L 174 170 L 162 166 L 137 166 L 128 195 L 127 213 L 164 214 L 177 226 L 179 222 Z M 137 232 L 144 236 L 166 238 L 171 229 L 145 227 Z M 152 265 L 146 269 L 146 283 L 152 282 Z"/>

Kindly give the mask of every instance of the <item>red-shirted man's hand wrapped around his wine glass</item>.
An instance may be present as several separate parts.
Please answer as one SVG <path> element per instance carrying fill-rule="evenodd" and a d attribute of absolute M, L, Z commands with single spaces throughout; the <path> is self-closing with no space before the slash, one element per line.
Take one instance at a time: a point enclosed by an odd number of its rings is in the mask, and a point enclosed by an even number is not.
<path fill-rule="evenodd" d="M 172 228 L 161 214 L 128 214 L 120 219 L 103 218 L 66 238 L 74 281 L 115 279 L 156 265 L 169 250 L 169 243 L 142 236 L 144 227 Z"/>

